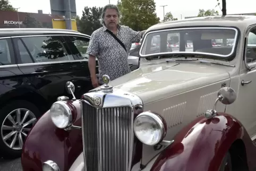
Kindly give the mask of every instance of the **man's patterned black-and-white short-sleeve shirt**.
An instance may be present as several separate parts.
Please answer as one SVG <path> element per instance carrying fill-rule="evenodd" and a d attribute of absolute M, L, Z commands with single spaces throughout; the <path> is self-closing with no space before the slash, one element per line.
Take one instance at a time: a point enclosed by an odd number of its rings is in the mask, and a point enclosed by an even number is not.
<path fill-rule="evenodd" d="M 99 82 L 103 84 L 102 76 L 107 74 L 110 80 L 119 78 L 131 72 L 128 64 L 128 54 L 133 42 L 139 42 L 141 32 L 118 25 L 117 38 L 125 45 L 125 49 L 108 33 L 105 26 L 95 30 L 89 42 L 87 54 L 96 56 L 99 65 Z"/>

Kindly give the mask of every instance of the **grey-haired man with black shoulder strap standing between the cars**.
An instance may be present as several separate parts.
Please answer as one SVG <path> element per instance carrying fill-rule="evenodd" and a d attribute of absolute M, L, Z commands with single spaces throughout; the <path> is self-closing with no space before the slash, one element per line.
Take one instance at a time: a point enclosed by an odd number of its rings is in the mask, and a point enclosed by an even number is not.
<path fill-rule="evenodd" d="M 89 70 L 92 86 L 103 84 L 102 76 L 107 74 L 110 80 L 131 72 L 127 58 L 133 42 L 139 42 L 141 32 L 136 32 L 127 26 L 119 25 L 120 12 L 116 5 L 103 7 L 101 24 L 103 27 L 91 35 L 87 49 L 89 54 Z M 113 34 L 113 35 L 112 35 Z M 118 42 L 114 37 L 121 42 Z M 123 44 L 123 45 L 122 45 Z M 96 57 L 99 65 L 99 80 L 96 76 Z"/>

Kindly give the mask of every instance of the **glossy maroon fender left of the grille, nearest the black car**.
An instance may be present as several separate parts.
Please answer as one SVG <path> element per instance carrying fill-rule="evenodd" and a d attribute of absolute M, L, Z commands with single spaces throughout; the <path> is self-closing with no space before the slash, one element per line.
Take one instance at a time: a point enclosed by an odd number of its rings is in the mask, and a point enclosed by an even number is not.
<path fill-rule="evenodd" d="M 67 104 L 77 113 L 73 115 L 73 125 L 81 126 L 80 100 L 69 100 Z M 40 171 L 42 163 L 53 160 L 59 169 L 66 171 L 82 149 L 82 131 L 58 129 L 52 122 L 48 110 L 27 136 L 21 156 L 22 168 L 24 171 Z"/>

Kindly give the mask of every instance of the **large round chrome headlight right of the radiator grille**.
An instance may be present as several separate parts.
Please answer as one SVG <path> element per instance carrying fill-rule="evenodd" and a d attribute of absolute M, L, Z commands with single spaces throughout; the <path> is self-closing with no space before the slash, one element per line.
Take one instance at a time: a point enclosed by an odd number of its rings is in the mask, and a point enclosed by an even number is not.
<path fill-rule="evenodd" d="M 136 137 L 144 144 L 155 146 L 161 142 L 166 134 L 162 118 L 151 112 L 139 114 L 133 125 Z"/>

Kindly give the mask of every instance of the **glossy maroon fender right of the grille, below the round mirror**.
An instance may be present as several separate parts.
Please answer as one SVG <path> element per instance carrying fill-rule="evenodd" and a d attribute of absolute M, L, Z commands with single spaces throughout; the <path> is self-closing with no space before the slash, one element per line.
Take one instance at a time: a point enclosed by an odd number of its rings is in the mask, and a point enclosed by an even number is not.
<path fill-rule="evenodd" d="M 173 144 L 160 153 L 150 170 L 216 171 L 237 139 L 245 144 L 249 170 L 255 169 L 256 150 L 249 134 L 236 118 L 219 113 L 212 119 L 199 117 L 184 127 L 175 136 Z"/>

